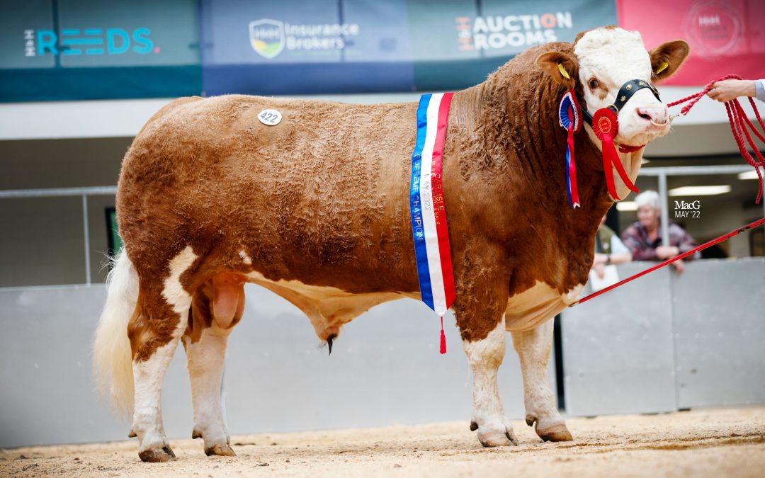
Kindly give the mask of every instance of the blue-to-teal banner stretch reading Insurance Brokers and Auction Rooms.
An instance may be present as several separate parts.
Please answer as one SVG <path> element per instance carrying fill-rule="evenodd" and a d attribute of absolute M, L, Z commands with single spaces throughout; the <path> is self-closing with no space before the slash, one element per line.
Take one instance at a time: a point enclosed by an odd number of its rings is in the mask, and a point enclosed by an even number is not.
<path fill-rule="evenodd" d="M 203 0 L 207 95 L 432 91 L 617 21 L 597 0 Z"/>

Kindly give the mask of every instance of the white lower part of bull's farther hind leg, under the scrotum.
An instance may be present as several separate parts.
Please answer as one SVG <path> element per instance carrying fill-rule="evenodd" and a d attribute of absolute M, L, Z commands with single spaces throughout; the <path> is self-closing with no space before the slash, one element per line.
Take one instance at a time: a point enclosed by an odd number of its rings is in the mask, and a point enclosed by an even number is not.
<path fill-rule="evenodd" d="M 197 343 L 191 343 L 191 338 L 184 336 L 191 402 L 194 404 L 194 434 L 202 435 L 205 451 L 214 445 L 229 443 L 220 397 L 229 333 L 230 329 L 224 330 L 213 324 L 202 331 Z"/>

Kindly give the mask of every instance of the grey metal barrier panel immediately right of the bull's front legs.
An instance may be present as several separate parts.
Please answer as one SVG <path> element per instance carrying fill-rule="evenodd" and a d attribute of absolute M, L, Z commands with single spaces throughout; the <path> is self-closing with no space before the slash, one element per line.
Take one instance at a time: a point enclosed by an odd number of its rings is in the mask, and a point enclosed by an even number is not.
<path fill-rule="evenodd" d="M 627 278 L 649 267 L 618 267 Z M 662 268 L 562 313 L 563 373 L 569 415 L 677 409 L 669 268 Z M 591 292 L 589 285 L 582 297 Z"/>

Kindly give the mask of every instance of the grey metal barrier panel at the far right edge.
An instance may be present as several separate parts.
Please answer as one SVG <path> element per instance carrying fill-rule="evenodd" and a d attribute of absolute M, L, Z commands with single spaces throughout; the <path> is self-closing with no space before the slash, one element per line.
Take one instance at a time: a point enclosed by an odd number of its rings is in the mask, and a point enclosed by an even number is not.
<path fill-rule="evenodd" d="M 765 258 L 672 275 L 678 405 L 765 403 Z"/>

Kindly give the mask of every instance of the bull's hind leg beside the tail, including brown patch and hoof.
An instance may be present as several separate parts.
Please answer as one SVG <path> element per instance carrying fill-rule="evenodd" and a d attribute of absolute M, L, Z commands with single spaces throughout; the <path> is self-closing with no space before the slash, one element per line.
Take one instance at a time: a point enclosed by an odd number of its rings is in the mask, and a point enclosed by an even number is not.
<path fill-rule="evenodd" d="M 181 274 L 194 262 L 191 248 L 170 262 L 170 277 L 139 283 L 138 305 L 128 324 L 132 350 L 135 408 L 129 436 L 138 437 L 138 457 L 161 462 L 175 457 L 164 434 L 161 395 L 164 374 L 186 329 L 191 297 L 181 286 Z M 140 274 L 139 274 L 140 277 Z"/>

